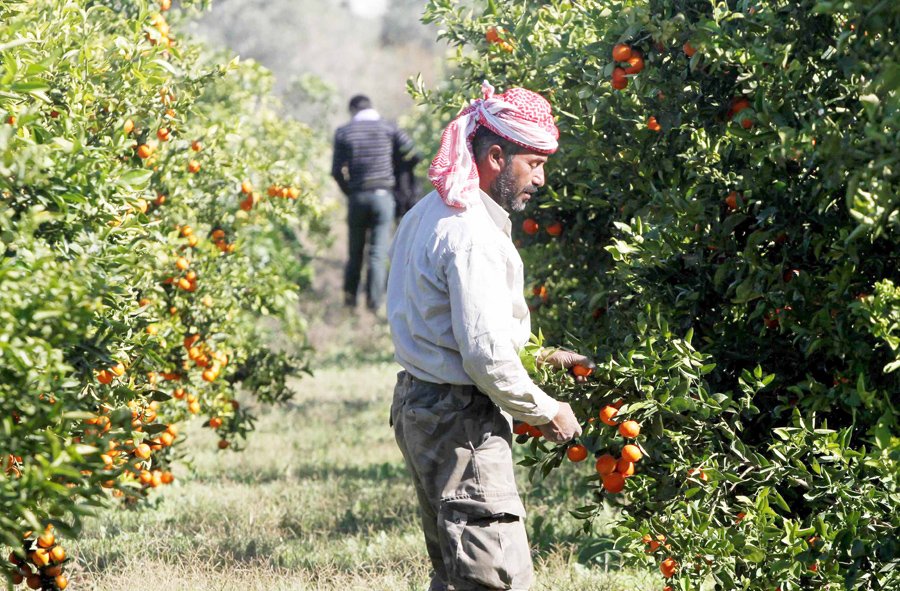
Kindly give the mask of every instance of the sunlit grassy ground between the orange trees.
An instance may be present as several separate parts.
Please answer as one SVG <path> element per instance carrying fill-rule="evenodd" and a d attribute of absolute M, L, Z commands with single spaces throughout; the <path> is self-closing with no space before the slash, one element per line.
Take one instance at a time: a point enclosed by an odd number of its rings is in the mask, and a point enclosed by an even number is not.
<path fill-rule="evenodd" d="M 371 362 L 319 370 L 288 407 L 261 412 L 243 453 L 216 451 L 212 434 L 191 426 L 192 464 L 154 506 L 88 523 L 73 544 L 73 588 L 424 589 L 413 491 L 387 425 L 395 371 Z M 576 562 L 579 524 L 567 510 L 577 501 L 558 497 L 577 479 L 572 470 L 552 478 L 549 487 L 520 478 L 535 589 L 655 588 L 642 573 Z"/>

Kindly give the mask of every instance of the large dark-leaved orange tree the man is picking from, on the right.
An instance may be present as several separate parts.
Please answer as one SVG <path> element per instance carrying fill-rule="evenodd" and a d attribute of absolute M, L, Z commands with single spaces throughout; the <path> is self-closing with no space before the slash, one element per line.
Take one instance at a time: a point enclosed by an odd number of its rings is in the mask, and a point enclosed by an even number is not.
<path fill-rule="evenodd" d="M 479 4 L 429 2 L 457 70 L 419 98 L 558 114 L 516 238 L 548 342 L 598 360 L 542 376 L 598 456 L 574 513 L 621 509 L 592 547 L 667 589 L 897 588 L 897 3 Z"/>

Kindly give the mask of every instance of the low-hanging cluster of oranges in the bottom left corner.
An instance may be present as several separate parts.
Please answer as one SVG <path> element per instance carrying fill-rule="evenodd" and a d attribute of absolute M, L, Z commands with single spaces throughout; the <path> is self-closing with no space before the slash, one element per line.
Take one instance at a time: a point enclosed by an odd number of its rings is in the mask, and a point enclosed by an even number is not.
<path fill-rule="evenodd" d="M 10 580 L 13 585 L 25 583 L 29 589 L 63 591 L 69 580 L 63 574 L 66 551 L 56 543 L 53 527 L 48 525 L 37 538 L 27 532 L 22 544 L 22 552 L 12 552 L 9 561 L 13 566 Z"/>

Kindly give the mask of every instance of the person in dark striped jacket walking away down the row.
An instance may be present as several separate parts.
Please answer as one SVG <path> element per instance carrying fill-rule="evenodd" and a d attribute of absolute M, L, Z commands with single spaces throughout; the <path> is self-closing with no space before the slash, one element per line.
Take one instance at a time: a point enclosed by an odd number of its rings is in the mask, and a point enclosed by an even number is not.
<path fill-rule="evenodd" d="M 344 269 L 344 304 L 355 308 L 363 254 L 368 243 L 366 305 L 376 312 L 383 300 L 387 249 L 394 220 L 396 160 L 420 158 L 413 141 L 381 118 L 364 95 L 350 100 L 351 120 L 334 135 L 331 175 L 347 196 L 348 260 Z"/>

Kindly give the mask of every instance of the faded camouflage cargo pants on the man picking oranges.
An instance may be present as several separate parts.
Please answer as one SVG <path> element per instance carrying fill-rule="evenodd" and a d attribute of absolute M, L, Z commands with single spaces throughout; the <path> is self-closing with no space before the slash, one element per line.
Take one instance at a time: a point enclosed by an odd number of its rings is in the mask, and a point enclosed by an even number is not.
<path fill-rule="evenodd" d="M 391 422 L 422 515 L 432 591 L 528 589 L 510 419 L 473 386 L 397 375 Z"/>

